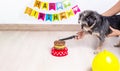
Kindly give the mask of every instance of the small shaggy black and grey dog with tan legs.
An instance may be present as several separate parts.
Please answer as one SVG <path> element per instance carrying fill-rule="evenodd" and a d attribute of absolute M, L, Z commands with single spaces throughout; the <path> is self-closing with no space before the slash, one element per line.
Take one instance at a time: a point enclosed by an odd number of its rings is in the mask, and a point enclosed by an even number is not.
<path fill-rule="evenodd" d="M 101 51 L 106 36 L 112 33 L 110 26 L 120 30 L 120 15 L 105 17 L 96 11 L 85 10 L 79 14 L 78 23 L 81 25 L 83 32 L 95 35 L 99 38 L 99 46 L 95 50 L 95 54 Z M 120 42 L 118 45 L 120 46 Z"/>

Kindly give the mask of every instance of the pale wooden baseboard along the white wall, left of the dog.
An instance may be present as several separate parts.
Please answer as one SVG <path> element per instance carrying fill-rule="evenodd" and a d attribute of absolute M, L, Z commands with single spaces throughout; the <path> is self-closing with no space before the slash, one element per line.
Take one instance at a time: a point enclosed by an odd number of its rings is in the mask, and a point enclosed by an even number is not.
<path fill-rule="evenodd" d="M 79 31 L 79 24 L 0 24 L 1 31 Z"/>

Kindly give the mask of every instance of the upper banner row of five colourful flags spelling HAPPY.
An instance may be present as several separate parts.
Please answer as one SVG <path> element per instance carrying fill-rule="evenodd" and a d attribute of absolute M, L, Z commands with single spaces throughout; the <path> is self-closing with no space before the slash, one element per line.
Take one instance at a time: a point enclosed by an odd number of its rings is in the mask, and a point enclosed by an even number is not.
<path fill-rule="evenodd" d="M 61 10 L 64 8 L 68 8 L 69 6 L 71 6 L 71 3 L 68 0 L 64 0 L 62 2 L 56 2 L 56 3 L 48 3 L 48 2 L 35 0 L 34 3 L 34 7 L 37 7 L 42 10 Z"/>

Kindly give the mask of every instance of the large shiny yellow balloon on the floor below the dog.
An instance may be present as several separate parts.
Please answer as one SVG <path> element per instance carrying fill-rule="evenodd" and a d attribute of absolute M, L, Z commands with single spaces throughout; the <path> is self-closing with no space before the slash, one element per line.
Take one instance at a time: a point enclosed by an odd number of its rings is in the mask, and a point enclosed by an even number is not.
<path fill-rule="evenodd" d="M 113 53 L 104 50 L 93 59 L 92 71 L 119 71 L 119 60 Z"/>

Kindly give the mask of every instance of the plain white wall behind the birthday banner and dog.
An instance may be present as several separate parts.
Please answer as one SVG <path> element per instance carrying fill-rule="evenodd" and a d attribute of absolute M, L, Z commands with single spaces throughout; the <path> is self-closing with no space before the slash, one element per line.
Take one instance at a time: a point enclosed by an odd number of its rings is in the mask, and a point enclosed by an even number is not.
<path fill-rule="evenodd" d="M 27 6 L 33 8 L 35 0 L 1 0 L 0 1 L 0 24 L 77 24 L 78 14 L 56 22 L 45 22 L 37 20 L 31 16 L 25 15 L 24 11 Z M 63 0 L 41 0 L 47 2 L 60 2 Z M 70 0 L 71 7 L 79 5 L 81 11 L 89 9 L 102 13 L 113 6 L 118 0 Z M 71 8 L 70 7 L 70 8 Z M 64 9 L 62 11 L 66 11 Z M 62 12 L 60 11 L 60 12 Z M 53 12 L 53 11 L 45 11 Z"/>

